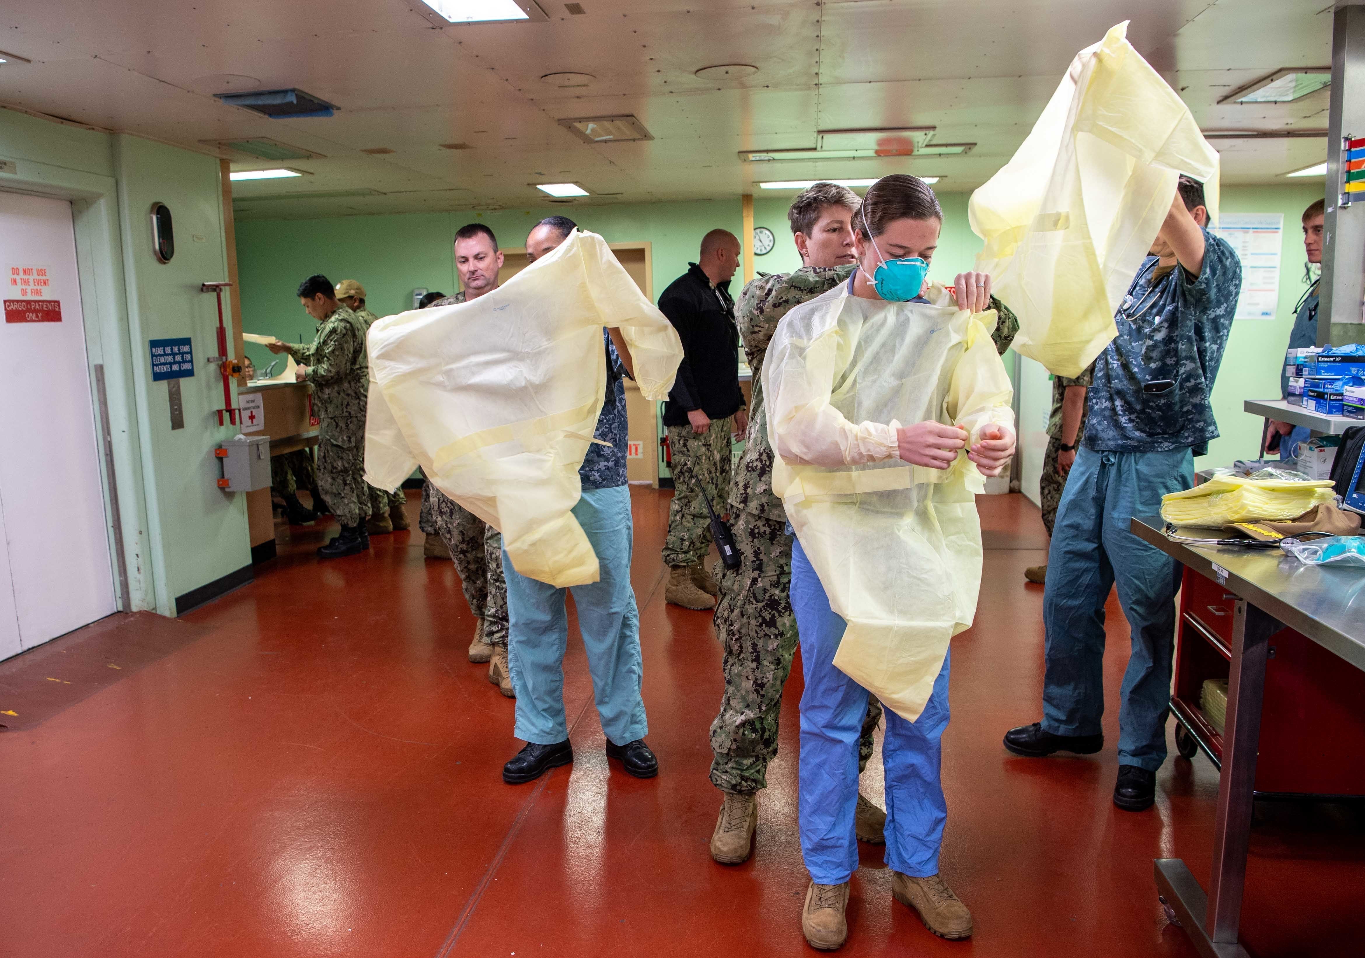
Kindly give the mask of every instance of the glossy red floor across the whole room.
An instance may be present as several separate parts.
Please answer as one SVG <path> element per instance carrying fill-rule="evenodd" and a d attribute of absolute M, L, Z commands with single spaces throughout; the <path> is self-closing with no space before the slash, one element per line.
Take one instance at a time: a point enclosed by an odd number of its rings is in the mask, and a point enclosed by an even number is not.
<path fill-rule="evenodd" d="M 943 770 L 943 875 L 976 935 L 931 936 L 864 846 L 842 954 L 1193 955 L 1162 916 L 1152 858 L 1183 857 L 1207 876 L 1215 772 L 1203 757 L 1168 761 L 1156 808 L 1133 815 L 1110 802 L 1112 745 L 1044 761 L 1002 751 L 1005 729 L 1039 716 L 1041 590 L 1022 569 L 1046 539 L 1022 497 L 983 498 L 981 512 L 984 585 L 976 628 L 954 643 Z M 635 513 L 662 768 L 647 782 L 606 764 L 573 643 L 576 763 L 501 782 L 519 748 L 513 703 L 465 659 L 472 620 L 455 569 L 423 561 L 416 529 L 319 565 L 313 547 L 329 529 L 295 528 L 254 584 L 179 622 L 106 620 L 0 665 L 0 712 L 20 712 L 0 715 L 0 955 L 811 954 L 799 670 L 756 853 L 717 865 L 707 726 L 719 650 L 707 614 L 663 605 L 667 494 L 636 490 Z M 1127 630 L 1112 600 L 1110 613 L 1112 703 Z M 147 640 L 120 663 L 116 633 L 132 628 Z M 25 725 L 18 701 L 48 718 Z M 1115 723 L 1111 707 L 1111 742 Z M 879 775 L 874 759 L 864 786 L 878 797 Z M 1340 808 L 1260 819 L 1252 953 L 1365 951 L 1360 820 Z"/>

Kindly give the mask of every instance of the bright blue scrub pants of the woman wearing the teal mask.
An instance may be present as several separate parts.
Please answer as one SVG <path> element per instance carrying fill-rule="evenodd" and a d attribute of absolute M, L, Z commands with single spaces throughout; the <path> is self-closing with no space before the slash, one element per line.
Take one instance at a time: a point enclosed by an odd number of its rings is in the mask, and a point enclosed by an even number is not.
<path fill-rule="evenodd" d="M 792 543 L 792 610 L 801 636 L 801 854 L 816 884 L 842 884 L 857 868 L 857 746 L 867 689 L 834 666 L 844 620 L 830 609 L 815 569 Z M 886 710 L 886 864 L 915 877 L 938 875 L 947 802 L 939 738 L 947 727 L 949 656 L 916 722 Z"/>

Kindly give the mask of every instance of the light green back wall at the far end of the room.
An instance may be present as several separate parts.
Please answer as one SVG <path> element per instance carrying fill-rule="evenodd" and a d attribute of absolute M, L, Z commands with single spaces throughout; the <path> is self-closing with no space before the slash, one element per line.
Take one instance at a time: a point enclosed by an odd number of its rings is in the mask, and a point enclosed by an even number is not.
<path fill-rule="evenodd" d="M 1279 389 L 1279 366 L 1293 322 L 1290 310 L 1304 289 L 1304 247 L 1298 229 L 1304 207 L 1321 195 L 1321 184 L 1275 187 L 1227 187 L 1223 210 L 1228 213 L 1283 213 L 1284 252 L 1280 277 L 1280 308 L 1274 321 L 1238 321 L 1213 390 L 1213 411 L 1222 437 L 1209 448 L 1205 464 L 1256 454 L 1260 420 L 1242 412 L 1242 400 L 1272 397 Z M 950 282 L 971 269 L 981 242 L 966 221 L 968 194 L 942 192 L 943 233 L 930 276 Z M 786 209 L 792 197 L 755 197 L 753 224 L 777 237 L 771 252 L 758 257 L 755 269 L 784 273 L 800 259 L 792 243 Z M 696 258 L 696 244 L 714 227 L 740 232 L 738 198 L 696 203 L 606 206 L 581 210 L 547 206 L 498 213 L 434 213 L 329 220 L 257 220 L 238 227 L 238 262 L 242 277 L 243 328 L 287 338 L 313 336 L 313 322 L 293 299 L 298 282 L 314 272 L 333 281 L 360 280 L 370 293 L 370 307 L 379 313 L 410 308 L 414 287 L 453 292 L 452 237 L 470 220 L 487 222 L 504 246 L 521 246 L 530 227 L 543 216 L 572 213 L 584 228 L 609 242 L 654 243 L 654 295 Z M 736 284 L 738 285 L 738 284 Z M 248 347 L 257 363 L 270 360 L 258 347 Z M 1006 355 L 1013 375 L 1013 362 Z"/>

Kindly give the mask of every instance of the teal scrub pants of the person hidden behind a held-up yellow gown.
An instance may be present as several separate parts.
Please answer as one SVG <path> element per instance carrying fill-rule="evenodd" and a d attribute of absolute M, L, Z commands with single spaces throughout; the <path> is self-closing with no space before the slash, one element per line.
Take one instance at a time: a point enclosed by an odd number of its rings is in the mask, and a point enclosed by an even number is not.
<path fill-rule="evenodd" d="M 588 654 L 592 695 L 602 731 L 617 745 L 644 738 L 640 697 L 640 613 L 631 588 L 631 490 L 584 489 L 573 517 L 602 566 L 599 581 L 573 585 L 579 632 Z M 564 650 L 569 641 L 565 598 L 571 590 L 527 579 L 512 568 L 506 550 L 508 663 L 516 692 L 517 738 L 553 745 L 569 737 L 564 716 Z"/>

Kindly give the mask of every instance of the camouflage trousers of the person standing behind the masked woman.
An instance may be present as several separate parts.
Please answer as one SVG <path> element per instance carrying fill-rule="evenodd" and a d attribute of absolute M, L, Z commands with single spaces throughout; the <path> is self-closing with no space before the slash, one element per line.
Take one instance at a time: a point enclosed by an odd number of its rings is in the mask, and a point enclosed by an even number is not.
<path fill-rule="evenodd" d="M 740 568 L 721 570 L 715 635 L 723 648 L 725 693 L 711 722 L 711 783 L 723 792 L 752 794 L 767 786 L 777 755 L 782 686 L 796 655 L 792 614 L 792 536 L 786 523 L 741 512 L 732 529 Z M 882 703 L 867 699 L 859 740 L 859 771 L 872 757 L 872 733 Z"/>

